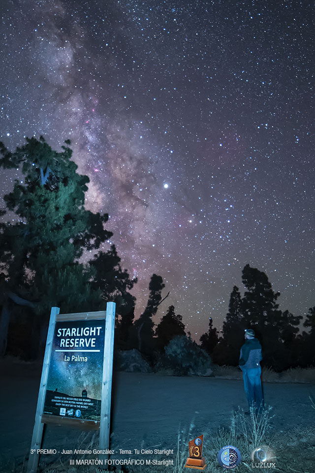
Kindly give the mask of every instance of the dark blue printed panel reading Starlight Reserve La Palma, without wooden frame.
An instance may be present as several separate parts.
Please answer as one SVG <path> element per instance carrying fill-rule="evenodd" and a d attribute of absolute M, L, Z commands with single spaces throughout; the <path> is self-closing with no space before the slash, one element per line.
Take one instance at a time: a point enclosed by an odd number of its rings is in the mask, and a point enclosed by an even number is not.
<path fill-rule="evenodd" d="M 105 319 L 56 322 L 43 414 L 100 420 Z"/>

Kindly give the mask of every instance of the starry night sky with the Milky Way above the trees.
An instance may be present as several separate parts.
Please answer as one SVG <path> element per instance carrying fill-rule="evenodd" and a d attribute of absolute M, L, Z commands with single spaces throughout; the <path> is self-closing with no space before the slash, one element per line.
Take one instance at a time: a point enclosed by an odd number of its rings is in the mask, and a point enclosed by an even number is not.
<path fill-rule="evenodd" d="M 2 0 L 0 133 L 71 139 L 122 266 L 196 340 L 242 269 L 280 308 L 314 296 L 314 5 L 290 0 Z M 3 169 L 1 170 L 3 176 Z M 1 196 L 18 171 L 3 176 Z M 3 206 L 3 201 L 0 203 Z M 14 215 L 8 218 L 14 219 Z M 107 243 L 109 245 L 109 243 Z"/>

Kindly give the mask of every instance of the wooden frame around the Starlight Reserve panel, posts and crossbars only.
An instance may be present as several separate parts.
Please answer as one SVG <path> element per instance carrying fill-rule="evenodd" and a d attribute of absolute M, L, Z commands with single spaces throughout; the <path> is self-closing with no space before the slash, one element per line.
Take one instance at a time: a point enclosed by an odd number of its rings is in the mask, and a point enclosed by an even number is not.
<path fill-rule="evenodd" d="M 115 308 L 116 308 L 116 304 L 114 302 L 108 302 L 106 304 L 106 311 L 101 310 L 97 312 L 60 314 L 59 307 L 51 308 L 27 473 L 35 473 L 37 471 L 38 462 L 39 462 L 39 453 L 37 453 L 37 451 L 40 450 L 41 448 L 44 424 L 55 424 L 55 425 L 57 424 L 61 426 L 69 426 L 69 427 L 71 426 L 71 427 L 87 429 L 87 430 L 99 429 L 99 449 L 100 450 L 109 449 L 110 408 L 111 408 L 111 390 L 112 390 L 113 354 L 114 354 Z M 90 420 L 90 419 L 75 419 L 75 418 L 67 418 L 67 417 L 56 416 L 56 415 L 43 414 L 56 322 L 65 322 L 65 321 L 76 322 L 76 321 L 97 320 L 97 319 L 102 319 L 102 320 L 105 319 L 103 371 L 102 371 L 102 381 L 101 381 L 102 387 L 101 387 L 100 421 Z"/>

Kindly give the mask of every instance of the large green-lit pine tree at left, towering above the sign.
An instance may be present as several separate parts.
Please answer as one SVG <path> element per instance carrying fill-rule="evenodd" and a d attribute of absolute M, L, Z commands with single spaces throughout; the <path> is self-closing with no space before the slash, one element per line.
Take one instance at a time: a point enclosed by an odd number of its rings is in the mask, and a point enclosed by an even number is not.
<path fill-rule="evenodd" d="M 62 152 L 56 152 L 43 137 L 26 138 L 26 144 L 14 153 L 0 144 L 0 166 L 21 169 L 23 174 L 23 180 L 16 180 L 13 191 L 4 196 L 15 221 L 0 227 L 2 354 L 10 301 L 32 307 L 34 318 L 40 321 L 41 343 L 51 306 L 63 312 L 103 307 L 101 291 L 91 284 L 95 270 L 79 259 L 84 251 L 97 250 L 112 236 L 104 228 L 108 215 L 85 209 L 89 178 L 76 172 L 70 141 L 65 144 Z"/>

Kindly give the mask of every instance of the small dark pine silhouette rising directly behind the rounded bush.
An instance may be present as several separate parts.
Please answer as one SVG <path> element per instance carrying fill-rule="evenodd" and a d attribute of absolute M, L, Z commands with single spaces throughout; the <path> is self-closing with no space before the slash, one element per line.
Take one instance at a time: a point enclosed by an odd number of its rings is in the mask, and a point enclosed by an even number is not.
<path fill-rule="evenodd" d="M 181 315 L 175 315 L 174 305 L 170 305 L 156 328 L 158 349 L 163 349 L 177 335 L 186 335 L 182 320 Z"/>

